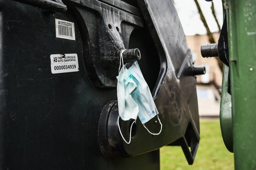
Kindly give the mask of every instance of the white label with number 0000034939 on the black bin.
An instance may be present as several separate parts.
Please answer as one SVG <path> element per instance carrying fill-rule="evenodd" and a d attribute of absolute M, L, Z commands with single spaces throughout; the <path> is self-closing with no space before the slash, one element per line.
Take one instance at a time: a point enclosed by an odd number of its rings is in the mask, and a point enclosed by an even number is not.
<path fill-rule="evenodd" d="M 78 71 L 77 54 L 52 54 L 50 58 L 52 74 Z"/>

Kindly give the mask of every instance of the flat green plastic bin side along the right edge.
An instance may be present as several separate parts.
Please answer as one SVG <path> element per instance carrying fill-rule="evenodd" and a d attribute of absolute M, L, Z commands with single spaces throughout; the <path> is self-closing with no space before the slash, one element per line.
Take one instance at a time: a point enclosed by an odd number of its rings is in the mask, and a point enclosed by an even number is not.
<path fill-rule="evenodd" d="M 236 170 L 256 169 L 256 3 L 228 0 L 229 69 Z"/>

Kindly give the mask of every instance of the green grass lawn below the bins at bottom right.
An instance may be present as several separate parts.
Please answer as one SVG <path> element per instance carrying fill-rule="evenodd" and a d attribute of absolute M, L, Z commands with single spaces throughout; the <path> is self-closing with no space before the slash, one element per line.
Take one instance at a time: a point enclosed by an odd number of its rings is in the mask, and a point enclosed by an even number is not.
<path fill-rule="evenodd" d="M 232 170 L 233 153 L 222 140 L 220 122 L 201 120 L 200 142 L 193 165 L 188 165 L 179 146 L 165 146 L 160 149 L 161 170 Z"/>

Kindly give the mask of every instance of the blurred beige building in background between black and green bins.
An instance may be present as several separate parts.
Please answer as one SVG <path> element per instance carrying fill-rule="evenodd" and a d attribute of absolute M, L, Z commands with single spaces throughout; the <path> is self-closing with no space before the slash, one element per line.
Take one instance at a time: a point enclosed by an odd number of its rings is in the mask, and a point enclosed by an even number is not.
<path fill-rule="evenodd" d="M 219 39 L 219 33 L 214 33 L 213 36 L 215 40 Z M 194 64 L 206 68 L 206 74 L 196 78 L 199 115 L 200 117 L 218 117 L 222 71 L 216 58 L 203 58 L 200 52 L 201 45 L 209 43 L 208 36 L 190 35 L 186 38 Z"/>

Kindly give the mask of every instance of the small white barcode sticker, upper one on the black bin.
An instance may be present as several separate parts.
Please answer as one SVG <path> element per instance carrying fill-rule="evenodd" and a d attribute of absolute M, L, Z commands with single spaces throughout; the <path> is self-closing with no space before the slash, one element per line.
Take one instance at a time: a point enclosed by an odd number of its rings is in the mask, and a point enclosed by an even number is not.
<path fill-rule="evenodd" d="M 56 38 L 76 40 L 74 22 L 55 19 Z"/>

